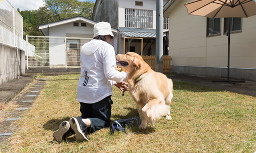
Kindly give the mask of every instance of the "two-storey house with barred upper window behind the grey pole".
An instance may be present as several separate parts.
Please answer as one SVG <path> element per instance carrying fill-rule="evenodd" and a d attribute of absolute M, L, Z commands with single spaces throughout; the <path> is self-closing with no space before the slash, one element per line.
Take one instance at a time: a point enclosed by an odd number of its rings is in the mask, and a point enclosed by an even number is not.
<path fill-rule="evenodd" d="M 163 4 L 166 2 L 167 0 L 164 0 Z M 118 29 L 113 42 L 117 53 L 131 51 L 141 55 L 155 55 L 155 0 L 97 0 L 92 19 L 109 22 L 112 27 Z M 164 32 L 168 31 L 168 23 L 168 18 L 165 18 Z M 168 54 L 166 37 L 163 47 L 164 55 Z"/>

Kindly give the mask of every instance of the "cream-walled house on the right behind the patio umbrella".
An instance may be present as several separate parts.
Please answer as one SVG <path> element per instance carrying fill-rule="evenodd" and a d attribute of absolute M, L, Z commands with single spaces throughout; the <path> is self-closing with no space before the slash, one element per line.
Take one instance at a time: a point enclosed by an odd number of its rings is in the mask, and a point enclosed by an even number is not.
<path fill-rule="evenodd" d="M 172 72 L 226 78 L 227 20 L 188 15 L 184 4 L 191 1 L 172 0 L 164 5 L 164 17 L 170 20 Z M 231 20 L 230 79 L 256 81 L 256 15 Z"/>

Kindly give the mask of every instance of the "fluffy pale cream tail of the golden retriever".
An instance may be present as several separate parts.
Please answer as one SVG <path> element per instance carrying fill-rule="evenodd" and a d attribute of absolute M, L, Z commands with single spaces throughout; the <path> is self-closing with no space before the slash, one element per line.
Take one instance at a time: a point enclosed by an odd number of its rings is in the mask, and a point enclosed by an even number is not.
<path fill-rule="evenodd" d="M 168 112 L 170 112 L 170 106 L 167 106 L 164 101 L 161 103 L 154 104 L 154 106 L 151 106 L 151 107 L 147 106 L 147 107 L 148 108 L 146 108 L 146 114 L 147 114 L 147 117 L 151 120 L 161 118 L 162 116 L 165 116 Z M 145 112 L 145 110 L 143 109 L 142 111 Z"/>

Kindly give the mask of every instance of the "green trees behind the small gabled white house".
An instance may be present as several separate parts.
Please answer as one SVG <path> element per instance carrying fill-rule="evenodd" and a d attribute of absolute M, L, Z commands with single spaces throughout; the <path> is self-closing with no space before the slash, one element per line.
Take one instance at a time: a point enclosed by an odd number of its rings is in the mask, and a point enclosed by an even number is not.
<path fill-rule="evenodd" d="M 44 6 L 38 10 L 20 11 L 23 17 L 23 37 L 26 35 L 42 36 L 38 25 L 59 21 L 82 14 L 86 18 L 92 17 L 93 2 L 79 2 L 78 0 L 43 0 Z"/>

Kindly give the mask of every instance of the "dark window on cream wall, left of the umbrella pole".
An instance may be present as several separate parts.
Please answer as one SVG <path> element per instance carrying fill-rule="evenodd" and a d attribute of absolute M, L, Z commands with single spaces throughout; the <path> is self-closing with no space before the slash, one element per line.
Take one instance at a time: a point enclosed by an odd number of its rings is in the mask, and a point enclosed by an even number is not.
<path fill-rule="evenodd" d="M 221 18 L 211 19 L 207 18 L 207 36 L 220 35 L 220 21 Z"/>

